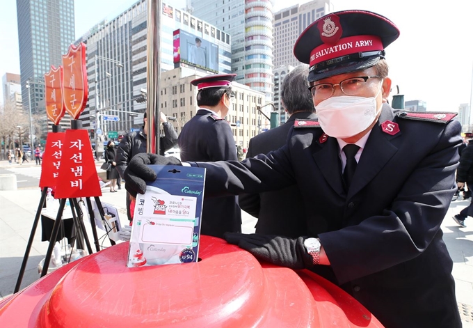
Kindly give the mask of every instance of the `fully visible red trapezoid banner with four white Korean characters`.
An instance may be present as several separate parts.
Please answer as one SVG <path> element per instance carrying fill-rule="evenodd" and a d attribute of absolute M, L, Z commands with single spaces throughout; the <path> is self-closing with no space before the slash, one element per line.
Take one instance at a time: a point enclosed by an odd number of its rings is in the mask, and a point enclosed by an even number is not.
<path fill-rule="evenodd" d="M 87 130 L 67 130 L 55 198 L 102 196 Z"/>

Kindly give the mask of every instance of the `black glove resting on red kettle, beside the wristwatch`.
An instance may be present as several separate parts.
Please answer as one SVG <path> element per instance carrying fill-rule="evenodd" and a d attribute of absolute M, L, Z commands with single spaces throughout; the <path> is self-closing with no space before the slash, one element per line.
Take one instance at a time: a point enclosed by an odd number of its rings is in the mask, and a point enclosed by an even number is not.
<path fill-rule="evenodd" d="M 304 247 L 305 237 L 290 239 L 275 235 L 261 235 L 252 233 L 224 233 L 223 238 L 230 244 L 238 245 L 252 253 L 255 258 L 266 262 L 289 267 L 291 269 L 305 269 L 313 267 L 312 256 Z"/>

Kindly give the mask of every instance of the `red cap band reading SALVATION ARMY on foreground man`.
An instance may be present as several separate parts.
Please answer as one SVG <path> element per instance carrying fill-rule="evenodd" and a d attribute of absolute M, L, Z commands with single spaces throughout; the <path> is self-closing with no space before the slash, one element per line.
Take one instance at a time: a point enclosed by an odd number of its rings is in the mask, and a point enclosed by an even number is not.
<path fill-rule="evenodd" d="M 383 49 L 383 42 L 378 36 L 348 36 L 338 40 L 335 45 L 324 43 L 312 50 L 310 52 L 310 66 L 357 52 L 374 52 Z"/>

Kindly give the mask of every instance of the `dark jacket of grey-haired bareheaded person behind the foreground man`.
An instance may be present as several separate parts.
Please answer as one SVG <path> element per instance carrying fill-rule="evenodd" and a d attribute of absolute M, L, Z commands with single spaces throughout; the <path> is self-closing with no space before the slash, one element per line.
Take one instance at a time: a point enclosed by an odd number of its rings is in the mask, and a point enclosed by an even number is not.
<path fill-rule="evenodd" d="M 283 125 L 252 137 L 246 158 L 284 146 L 297 118 L 315 119 L 316 115 L 310 111 L 294 113 Z M 297 185 L 262 194 L 243 194 L 239 196 L 239 204 L 242 210 L 258 218 L 257 233 L 299 237 L 307 231 L 303 197 Z"/>

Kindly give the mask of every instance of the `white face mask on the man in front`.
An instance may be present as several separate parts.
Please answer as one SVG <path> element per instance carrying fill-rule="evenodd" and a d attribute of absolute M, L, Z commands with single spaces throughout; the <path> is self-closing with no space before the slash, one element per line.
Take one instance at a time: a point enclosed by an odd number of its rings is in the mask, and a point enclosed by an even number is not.
<path fill-rule="evenodd" d="M 381 107 L 376 108 L 376 97 L 342 95 L 330 97 L 316 106 L 323 132 L 333 138 L 350 138 L 364 131 L 374 122 Z"/>

